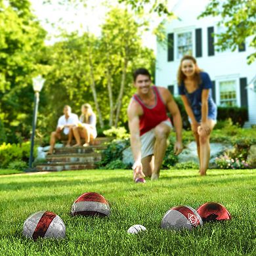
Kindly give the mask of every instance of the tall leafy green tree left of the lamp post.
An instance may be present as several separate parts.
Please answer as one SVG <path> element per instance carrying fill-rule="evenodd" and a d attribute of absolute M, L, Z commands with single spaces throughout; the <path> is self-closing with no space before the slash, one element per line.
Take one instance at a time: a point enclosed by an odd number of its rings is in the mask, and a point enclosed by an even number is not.
<path fill-rule="evenodd" d="M 10 142 L 30 134 L 32 77 L 46 35 L 30 8 L 28 0 L 0 0 L 0 120 Z"/>

